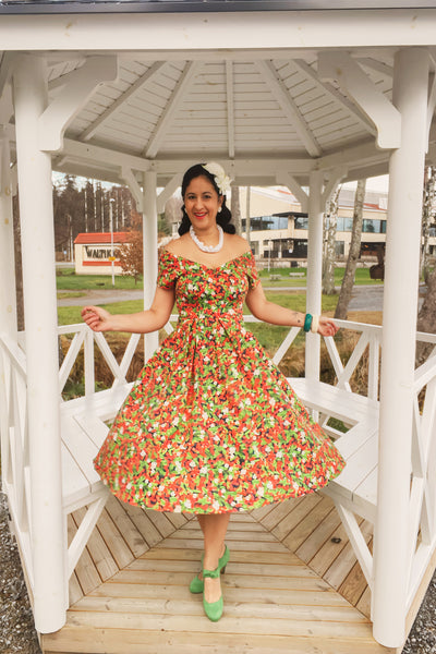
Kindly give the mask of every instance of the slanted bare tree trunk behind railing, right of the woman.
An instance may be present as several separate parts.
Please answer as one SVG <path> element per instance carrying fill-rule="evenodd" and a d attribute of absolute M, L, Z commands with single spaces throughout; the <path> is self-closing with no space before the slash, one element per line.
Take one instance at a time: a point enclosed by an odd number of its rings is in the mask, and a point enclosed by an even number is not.
<path fill-rule="evenodd" d="M 363 223 L 363 203 L 365 199 L 366 180 L 359 180 L 354 195 L 353 228 L 351 232 L 350 251 L 348 254 L 346 272 L 342 279 L 342 286 L 339 293 L 338 304 L 335 311 L 335 318 L 347 319 L 348 305 L 351 300 L 351 292 L 354 284 L 355 268 L 361 252 L 362 223 Z"/>

